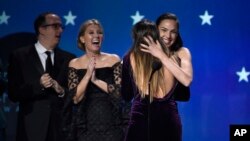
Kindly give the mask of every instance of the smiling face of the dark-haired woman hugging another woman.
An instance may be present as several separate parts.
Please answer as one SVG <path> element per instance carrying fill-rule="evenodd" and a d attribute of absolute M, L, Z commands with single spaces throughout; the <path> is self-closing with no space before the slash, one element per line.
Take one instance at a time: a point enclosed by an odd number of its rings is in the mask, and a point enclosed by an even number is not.
<path fill-rule="evenodd" d="M 178 36 L 178 25 L 175 20 L 162 20 L 158 26 L 160 37 L 167 47 L 174 44 Z"/>

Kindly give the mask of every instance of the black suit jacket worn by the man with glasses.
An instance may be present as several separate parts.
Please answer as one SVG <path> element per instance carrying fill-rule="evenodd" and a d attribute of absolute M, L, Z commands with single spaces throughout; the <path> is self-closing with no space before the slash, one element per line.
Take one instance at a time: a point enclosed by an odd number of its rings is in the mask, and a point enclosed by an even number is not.
<path fill-rule="evenodd" d="M 52 77 L 67 87 L 68 63 L 75 55 L 56 48 Z M 60 124 L 63 98 L 40 85 L 44 69 L 35 46 L 19 48 L 11 53 L 8 67 L 8 96 L 19 102 L 17 141 L 45 141 L 47 133 L 61 141 Z M 48 131 L 50 129 L 50 131 Z"/>

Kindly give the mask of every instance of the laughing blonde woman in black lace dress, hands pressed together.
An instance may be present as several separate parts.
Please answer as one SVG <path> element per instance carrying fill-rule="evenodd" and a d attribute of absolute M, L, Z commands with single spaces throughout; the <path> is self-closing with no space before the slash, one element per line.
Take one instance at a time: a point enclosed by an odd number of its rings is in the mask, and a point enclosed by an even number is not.
<path fill-rule="evenodd" d="M 101 52 L 103 28 L 96 19 L 82 24 L 77 41 L 85 54 L 69 63 L 70 104 L 66 102 L 64 114 L 69 111 L 71 117 L 65 134 L 69 140 L 121 141 L 120 93 L 114 91 L 120 58 Z"/>

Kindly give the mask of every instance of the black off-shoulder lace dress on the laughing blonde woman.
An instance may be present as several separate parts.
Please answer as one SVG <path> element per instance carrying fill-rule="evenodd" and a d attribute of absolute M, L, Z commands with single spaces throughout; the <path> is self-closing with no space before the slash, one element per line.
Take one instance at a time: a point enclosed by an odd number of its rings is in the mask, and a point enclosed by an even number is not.
<path fill-rule="evenodd" d="M 74 141 L 121 141 L 124 138 L 121 115 L 121 65 L 96 69 L 96 77 L 108 84 L 106 93 L 89 82 L 81 102 L 73 104 L 76 87 L 86 69 L 69 68 L 69 94 L 64 107 L 64 133 Z"/>

